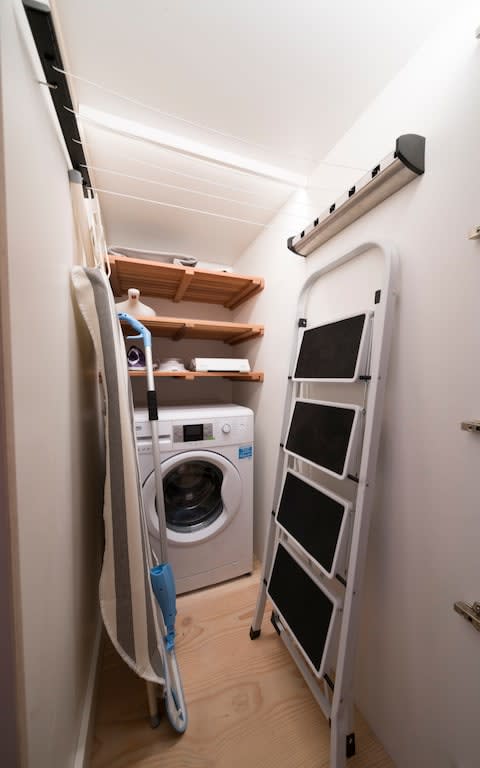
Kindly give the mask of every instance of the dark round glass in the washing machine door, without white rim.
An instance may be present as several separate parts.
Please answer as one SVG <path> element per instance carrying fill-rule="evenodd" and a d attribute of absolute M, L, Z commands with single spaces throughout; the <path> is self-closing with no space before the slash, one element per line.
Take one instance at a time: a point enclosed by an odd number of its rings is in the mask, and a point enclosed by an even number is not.
<path fill-rule="evenodd" d="M 163 478 L 167 528 L 178 533 L 211 525 L 223 510 L 223 473 L 209 461 L 177 464 Z"/>

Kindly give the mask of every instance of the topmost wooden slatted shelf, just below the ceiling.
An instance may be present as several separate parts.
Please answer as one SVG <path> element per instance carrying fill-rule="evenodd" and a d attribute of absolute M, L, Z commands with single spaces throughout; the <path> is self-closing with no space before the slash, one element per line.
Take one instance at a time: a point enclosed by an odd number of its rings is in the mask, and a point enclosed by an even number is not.
<path fill-rule="evenodd" d="M 235 309 L 264 287 L 261 277 L 130 259 L 128 256 L 109 256 L 109 261 L 115 296 L 126 294 L 129 288 L 138 288 L 145 296 L 221 304 Z"/>

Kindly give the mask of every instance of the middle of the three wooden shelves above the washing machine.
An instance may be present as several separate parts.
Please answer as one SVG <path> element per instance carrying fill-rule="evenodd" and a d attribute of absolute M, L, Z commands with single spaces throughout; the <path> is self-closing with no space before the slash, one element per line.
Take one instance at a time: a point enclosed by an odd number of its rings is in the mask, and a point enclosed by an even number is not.
<path fill-rule="evenodd" d="M 240 344 L 263 336 L 263 325 L 228 323 L 217 320 L 193 320 L 186 317 L 139 317 L 152 336 L 173 339 L 208 339 L 225 344 Z M 131 332 L 128 323 L 122 323 L 125 333 Z"/>

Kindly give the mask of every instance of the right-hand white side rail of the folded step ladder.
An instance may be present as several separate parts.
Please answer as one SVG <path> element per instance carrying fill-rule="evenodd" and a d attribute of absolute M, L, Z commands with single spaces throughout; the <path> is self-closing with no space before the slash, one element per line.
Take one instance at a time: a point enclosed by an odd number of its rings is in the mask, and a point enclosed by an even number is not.
<path fill-rule="evenodd" d="M 360 624 L 359 593 L 365 571 L 368 534 L 375 495 L 374 480 L 396 298 L 396 253 L 392 248 L 380 244 L 378 247 L 382 249 L 385 257 L 385 273 L 381 301 L 375 310 L 370 372 L 372 378 L 369 383 L 366 403 L 362 459 L 332 700 L 331 768 L 344 768 L 346 764 L 346 740 L 351 729 L 355 648 Z"/>

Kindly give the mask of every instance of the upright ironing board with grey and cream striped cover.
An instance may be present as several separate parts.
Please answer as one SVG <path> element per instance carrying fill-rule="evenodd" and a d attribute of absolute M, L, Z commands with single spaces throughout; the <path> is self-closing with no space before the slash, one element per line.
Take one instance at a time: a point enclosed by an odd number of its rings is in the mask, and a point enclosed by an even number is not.
<path fill-rule="evenodd" d="M 164 647 L 148 576 L 149 542 L 142 526 L 145 518 L 125 342 L 103 269 L 74 267 L 72 282 L 92 337 L 105 396 L 105 552 L 99 586 L 102 618 L 126 664 L 148 683 L 163 686 Z M 149 694 L 150 700 L 151 688 Z"/>

